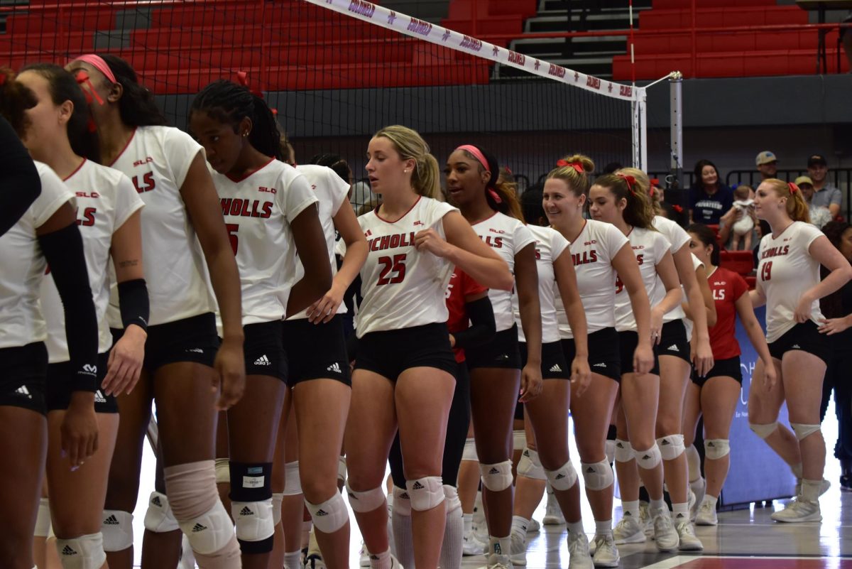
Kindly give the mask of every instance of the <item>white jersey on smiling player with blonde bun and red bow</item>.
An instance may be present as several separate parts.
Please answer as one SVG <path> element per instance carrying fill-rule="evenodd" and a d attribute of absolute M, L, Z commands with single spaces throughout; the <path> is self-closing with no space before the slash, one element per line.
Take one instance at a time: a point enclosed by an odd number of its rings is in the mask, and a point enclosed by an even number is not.
<path fill-rule="evenodd" d="M 571 244 L 577 288 L 586 315 L 589 333 L 615 326 L 615 280 L 613 257 L 629 241 L 617 227 L 603 221 L 586 220 L 583 230 Z M 559 336 L 573 338 L 562 298 L 556 295 Z"/>

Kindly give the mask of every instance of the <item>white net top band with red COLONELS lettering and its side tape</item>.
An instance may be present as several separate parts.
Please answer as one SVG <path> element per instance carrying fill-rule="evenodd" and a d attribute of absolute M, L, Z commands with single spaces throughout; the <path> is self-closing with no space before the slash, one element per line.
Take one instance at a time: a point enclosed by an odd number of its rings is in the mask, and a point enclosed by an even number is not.
<path fill-rule="evenodd" d="M 445 27 L 419 20 L 407 14 L 377 6 L 366 0 L 304 0 L 320 8 L 330 9 L 339 14 L 348 15 L 357 20 L 366 21 L 374 26 L 399 32 L 409 37 L 435 43 L 449 49 L 458 49 L 486 60 L 492 60 L 503 66 L 515 67 L 541 78 L 565 83 L 574 89 L 584 89 L 597 95 L 603 95 L 619 101 L 629 102 L 632 114 L 632 157 L 633 165 L 648 170 L 648 109 L 645 87 L 636 84 L 625 85 L 607 79 L 596 78 L 567 67 L 558 66 L 535 57 L 519 54 L 511 49 L 501 48 L 493 43 L 454 32 Z M 632 2 L 630 3 L 632 8 Z M 632 18 L 631 27 L 632 27 Z M 632 42 L 630 42 L 632 53 Z"/>

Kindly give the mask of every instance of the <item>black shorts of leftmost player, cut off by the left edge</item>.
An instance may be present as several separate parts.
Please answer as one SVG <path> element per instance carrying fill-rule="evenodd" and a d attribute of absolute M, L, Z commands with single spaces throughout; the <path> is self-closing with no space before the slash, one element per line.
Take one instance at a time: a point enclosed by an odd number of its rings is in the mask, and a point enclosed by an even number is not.
<path fill-rule="evenodd" d="M 0 405 L 23 407 L 43 415 L 44 382 L 48 374 L 48 348 L 44 342 L 0 348 Z M 14 457 L 9 457 L 14 459 Z"/>

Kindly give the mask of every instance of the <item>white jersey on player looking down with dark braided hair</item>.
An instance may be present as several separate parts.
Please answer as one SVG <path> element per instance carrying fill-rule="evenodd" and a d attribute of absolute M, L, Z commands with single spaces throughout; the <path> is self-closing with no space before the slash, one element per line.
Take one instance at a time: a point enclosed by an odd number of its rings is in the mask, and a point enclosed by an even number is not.
<path fill-rule="evenodd" d="M 213 173 L 239 268 L 243 325 L 284 318 L 296 273 L 291 222 L 317 198 L 305 176 L 274 158 L 241 180 Z"/>

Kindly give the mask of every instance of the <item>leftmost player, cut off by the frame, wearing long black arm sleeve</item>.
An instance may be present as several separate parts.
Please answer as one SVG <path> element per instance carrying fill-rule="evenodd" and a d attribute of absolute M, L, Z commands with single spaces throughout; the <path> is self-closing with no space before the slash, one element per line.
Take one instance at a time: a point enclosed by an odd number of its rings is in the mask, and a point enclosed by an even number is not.
<path fill-rule="evenodd" d="M 8 69 L 0 69 L 0 78 L 0 114 L 26 139 L 27 113 L 37 106 L 37 98 L 14 81 Z M 32 568 L 32 535 L 47 454 L 47 325 L 39 290 L 48 266 L 65 312 L 75 391 L 62 425 L 64 467 L 79 468 L 98 449 L 98 326 L 74 195 L 47 165 L 36 163 L 36 168 L 41 193 L 0 236 L 0 452 L 9 459 L 0 474 L 0 565 L 9 569 Z"/>

